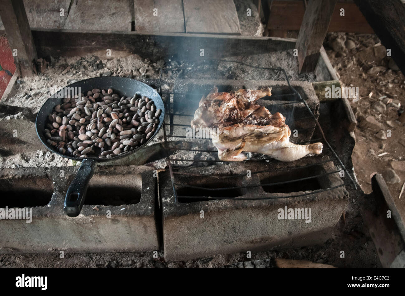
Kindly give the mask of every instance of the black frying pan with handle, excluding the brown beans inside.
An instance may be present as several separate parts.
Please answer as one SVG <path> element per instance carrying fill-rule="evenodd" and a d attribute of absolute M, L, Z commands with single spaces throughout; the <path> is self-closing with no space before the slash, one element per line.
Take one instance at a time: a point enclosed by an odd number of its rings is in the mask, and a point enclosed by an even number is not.
<path fill-rule="evenodd" d="M 159 117 L 159 125 L 156 128 L 153 136 L 146 142 L 148 143 L 153 139 L 154 136 L 158 133 L 160 128 L 164 122 L 164 104 L 162 98 L 153 88 L 144 84 L 138 80 L 130 79 L 130 78 L 123 78 L 123 77 L 96 77 L 90 78 L 86 80 L 81 80 L 75 82 L 73 84 L 69 84 L 66 87 L 81 87 L 81 92 L 85 93 L 88 90 L 92 90 L 93 88 L 112 88 L 114 92 L 118 93 L 121 96 L 125 97 L 132 97 L 135 93 L 138 93 L 142 96 L 149 97 L 155 103 L 156 109 L 162 109 L 162 113 Z M 58 105 L 62 104 L 63 99 L 57 98 L 50 98 L 48 99 L 41 107 L 36 116 L 36 133 L 38 134 L 39 139 L 41 142 L 53 153 L 59 154 L 60 156 L 70 158 L 72 160 L 77 160 L 81 162 L 81 166 L 79 171 L 77 172 L 75 178 L 73 179 L 72 183 L 66 192 L 65 198 L 65 205 L 64 210 L 68 216 L 76 217 L 80 214 L 81 208 L 83 207 L 83 203 L 86 197 L 87 187 L 89 184 L 90 179 L 93 176 L 94 168 L 96 167 L 97 162 L 111 162 L 118 158 L 126 157 L 131 153 L 135 153 L 139 151 L 141 147 L 146 145 L 144 143 L 142 146 L 125 153 L 124 155 L 115 156 L 111 158 L 104 158 L 98 159 L 97 157 L 87 157 L 87 158 L 80 158 L 80 157 L 71 157 L 67 155 L 63 155 L 56 151 L 55 148 L 47 143 L 47 139 L 45 137 L 45 126 L 48 120 L 48 115 L 53 112 L 53 108 Z"/>

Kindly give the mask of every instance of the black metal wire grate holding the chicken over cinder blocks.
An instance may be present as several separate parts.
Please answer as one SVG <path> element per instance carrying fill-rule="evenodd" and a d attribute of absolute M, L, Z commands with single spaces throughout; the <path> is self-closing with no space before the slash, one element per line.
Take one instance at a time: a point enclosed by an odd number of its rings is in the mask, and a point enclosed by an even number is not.
<path fill-rule="evenodd" d="M 216 61 L 222 61 L 222 62 L 232 62 L 232 63 L 240 63 L 243 65 L 246 65 L 248 67 L 252 67 L 252 68 L 256 68 L 256 69 L 266 69 L 269 71 L 278 71 L 283 73 L 283 75 L 285 76 L 285 81 L 288 84 L 289 89 L 291 90 L 288 94 L 277 94 L 277 95 L 272 95 L 271 98 L 278 98 L 281 97 L 281 99 L 283 101 L 288 101 L 288 102 L 283 102 L 283 103 L 279 103 L 279 104 L 274 104 L 273 106 L 276 105 L 289 105 L 289 104 L 293 104 L 293 103 L 298 103 L 298 102 L 303 102 L 305 104 L 305 107 L 308 111 L 308 116 L 305 117 L 301 117 L 301 118 L 294 118 L 294 120 L 314 120 L 315 121 L 315 128 L 318 128 L 318 131 L 320 133 L 320 135 L 322 136 L 321 138 L 318 139 L 311 139 L 310 141 L 304 141 L 301 143 L 296 143 L 296 144 L 310 144 L 310 143 L 315 143 L 318 141 L 322 141 L 322 143 L 326 144 L 324 145 L 324 150 L 322 152 L 321 155 L 315 155 L 315 156 L 311 156 L 311 164 L 305 165 L 305 166 L 294 166 L 294 162 L 292 163 L 288 163 L 286 162 L 285 166 L 283 168 L 277 168 L 274 169 L 274 167 L 272 168 L 272 162 L 278 162 L 277 160 L 274 160 L 271 157 L 263 157 L 260 154 L 257 153 L 253 153 L 254 155 L 245 161 L 239 162 L 239 163 L 245 163 L 245 164 L 252 164 L 251 168 L 252 168 L 252 175 L 253 174 L 260 174 L 260 173 L 266 173 L 266 172 L 281 172 L 281 171 L 292 171 L 292 170 L 296 170 L 296 169 L 305 169 L 305 168 L 310 168 L 312 166 L 318 166 L 320 164 L 325 164 L 327 162 L 333 162 L 334 165 L 341 167 L 342 170 L 344 170 L 345 172 L 345 176 L 349 177 L 349 181 L 348 182 L 343 182 L 341 185 L 337 185 L 334 187 L 329 187 L 326 189 L 319 189 L 319 190 L 313 190 L 310 191 L 308 193 L 303 193 L 303 194 L 290 194 L 288 196 L 282 196 L 280 197 L 279 195 L 274 195 L 274 196 L 266 196 L 266 197 L 257 197 L 257 198 L 244 198 L 244 197 L 218 197 L 217 195 L 215 197 L 209 197 L 209 196 L 185 196 L 185 195 L 178 195 L 177 194 L 177 188 L 179 186 L 181 187 L 186 187 L 186 188 L 192 188 L 192 189 L 196 189 L 196 190 L 205 190 L 208 192 L 214 192 L 214 191 L 228 191 L 228 190 L 234 190 L 234 189 L 247 189 L 247 188 L 253 188 L 253 187 L 260 187 L 260 186 L 272 186 L 272 185 L 288 185 L 290 183 L 294 183 L 297 181 L 305 181 L 308 180 L 310 178 L 315 178 L 315 177 L 320 177 L 320 176 L 327 176 L 328 174 L 337 174 L 339 173 L 341 170 L 334 170 L 334 171 L 330 171 L 330 172 L 324 172 L 322 174 L 318 174 L 315 176 L 309 176 L 309 177 L 303 177 L 303 178 L 297 178 L 294 180 L 288 180 L 288 181 L 281 181 L 281 182 L 274 182 L 274 183 L 264 183 L 264 184 L 259 184 L 259 185 L 248 185 L 248 186 L 232 186 L 232 187 L 220 187 L 220 188 L 206 188 L 206 187 L 201 187 L 201 186 L 194 186 L 194 185 L 189 185 L 186 183 L 182 183 L 181 181 L 181 176 L 195 176 L 195 177 L 203 177 L 203 178 L 219 178 L 219 179 L 224 179 L 224 178 L 235 178 L 235 177 L 243 177 L 246 176 L 246 174 L 192 174 L 192 173 L 188 173 L 188 172 L 181 172 L 181 170 L 179 170 L 180 168 L 185 168 L 185 166 L 181 166 L 178 165 L 177 162 L 186 162 L 188 164 L 190 164 L 190 166 L 186 166 L 187 168 L 195 168 L 195 167 L 200 167 L 200 164 L 207 164 L 207 165 L 212 165 L 212 164 L 220 164 L 220 163 L 232 163 L 232 162 L 226 162 L 223 160 L 219 160 L 217 158 L 216 155 L 216 159 L 209 159 L 209 160 L 203 160 L 203 159 L 193 159 L 193 158 L 176 158 L 173 156 L 175 151 L 188 151 L 188 152 L 202 152 L 202 153 L 208 153 L 209 155 L 215 155 L 215 153 L 217 153 L 217 150 L 215 149 L 204 149 L 205 143 L 204 141 L 211 141 L 211 139 L 190 139 L 191 142 L 193 142 L 194 144 L 196 144 L 197 149 L 190 149 L 190 148 L 181 148 L 181 147 L 174 147 L 173 146 L 173 141 L 175 141 L 176 139 L 179 140 L 185 140 L 187 139 L 187 137 L 185 135 L 179 135 L 179 134 L 173 134 L 175 127 L 180 127 L 180 128 L 186 128 L 186 127 L 190 127 L 189 124 L 183 124 L 183 123 L 179 123 L 176 122 L 175 118 L 177 116 L 179 117 L 187 117 L 189 118 L 189 122 L 191 122 L 192 118 L 194 118 L 194 114 L 184 114 L 184 113 L 178 113 L 178 110 L 176 110 L 175 108 L 175 98 L 177 98 L 178 96 L 185 96 L 186 98 L 188 96 L 196 96 L 199 95 L 200 97 L 202 96 L 206 96 L 207 93 L 196 93 L 196 92 L 175 92 L 175 91 L 167 91 L 167 92 L 162 92 L 162 88 L 160 87 L 160 94 L 162 96 L 162 98 L 166 98 L 166 120 L 164 123 L 164 149 L 166 152 L 166 162 L 168 164 L 168 168 L 170 170 L 170 176 L 171 176 L 171 182 L 173 185 L 173 193 L 174 193 L 174 197 L 177 203 L 177 200 L 179 198 L 182 199 L 232 199 L 232 200 L 253 200 L 253 199 L 272 199 L 272 198 L 294 198 L 294 197 L 302 197 L 305 195 L 312 195 L 312 194 L 316 194 L 316 193 L 320 193 L 320 192 L 324 192 L 324 191 L 328 191 L 328 190 L 333 190 L 336 189 L 338 187 L 343 187 L 343 186 L 354 186 L 355 189 L 357 189 L 356 183 L 353 179 L 353 177 L 350 175 L 350 173 L 348 172 L 348 170 L 346 169 L 345 165 L 343 164 L 343 162 L 341 161 L 341 159 L 339 158 L 339 156 L 337 155 L 337 153 L 335 152 L 335 150 L 331 147 L 331 145 L 329 144 L 329 142 L 326 140 L 325 134 L 322 130 L 322 127 L 320 126 L 317 117 L 314 115 L 313 111 L 311 110 L 311 108 L 309 107 L 309 105 L 307 104 L 307 102 L 305 101 L 305 99 L 303 99 L 301 97 L 301 95 L 299 94 L 299 92 L 290 84 L 290 80 L 288 79 L 287 73 L 284 69 L 281 68 L 266 68 L 266 67 L 257 67 L 257 66 L 252 66 L 252 65 L 247 65 L 243 62 L 239 62 L 239 61 L 228 61 L 228 60 L 216 60 Z M 181 68 L 181 67 L 179 67 Z M 160 83 L 159 85 L 161 85 L 161 77 L 160 76 Z M 299 132 L 299 130 L 298 130 Z M 328 159 L 324 160 L 322 159 L 322 156 L 324 155 L 328 155 Z M 254 170 L 254 164 L 255 162 L 261 162 L 262 164 L 267 164 L 268 167 L 270 167 L 267 170 Z M 345 178 L 347 180 L 347 178 Z"/>

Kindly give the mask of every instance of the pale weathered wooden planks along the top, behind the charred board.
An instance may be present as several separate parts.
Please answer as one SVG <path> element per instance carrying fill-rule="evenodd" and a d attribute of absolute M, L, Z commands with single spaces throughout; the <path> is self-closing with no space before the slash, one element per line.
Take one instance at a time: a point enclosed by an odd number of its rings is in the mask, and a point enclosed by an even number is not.
<path fill-rule="evenodd" d="M 23 1 L 31 28 L 240 34 L 233 0 Z M 1 21 L 0 30 L 4 30 Z"/>

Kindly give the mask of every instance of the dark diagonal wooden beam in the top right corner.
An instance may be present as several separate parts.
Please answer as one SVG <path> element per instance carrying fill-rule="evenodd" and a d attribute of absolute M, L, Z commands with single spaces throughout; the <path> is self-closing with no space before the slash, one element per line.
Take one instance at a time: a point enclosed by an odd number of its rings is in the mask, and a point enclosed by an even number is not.
<path fill-rule="evenodd" d="M 405 74 L 405 6 L 400 0 L 354 0 Z"/>

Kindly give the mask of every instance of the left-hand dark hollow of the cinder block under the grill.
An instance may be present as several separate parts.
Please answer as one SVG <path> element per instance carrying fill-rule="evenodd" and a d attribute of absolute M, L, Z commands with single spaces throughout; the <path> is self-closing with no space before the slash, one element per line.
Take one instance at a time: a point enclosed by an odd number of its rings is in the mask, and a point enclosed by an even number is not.
<path fill-rule="evenodd" d="M 212 179 L 212 178 L 211 178 Z M 236 180 L 235 180 L 236 179 Z M 228 182 L 214 182 L 214 183 L 188 183 L 190 186 L 204 187 L 204 189 L 196 189 L 190 187 L 177 187 L 177 195 L 192 196 L 192 197 L 202 197 L 202 198 L 188 198 L 179 197 L 178 202 L 205 202 L 208 200 L 215 199 L 215 197 L 238 197 L 246 193 L 245 188 L 232 188 L 226 190 L 209 190 L 215 188 L 225 188 L 225 187 L 240 187 L 243 186 L 239 181 L 240 178 L 234 178 Z M 214 197 L 214 198 L 204 198 L 204 197 Z"/>

